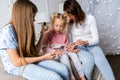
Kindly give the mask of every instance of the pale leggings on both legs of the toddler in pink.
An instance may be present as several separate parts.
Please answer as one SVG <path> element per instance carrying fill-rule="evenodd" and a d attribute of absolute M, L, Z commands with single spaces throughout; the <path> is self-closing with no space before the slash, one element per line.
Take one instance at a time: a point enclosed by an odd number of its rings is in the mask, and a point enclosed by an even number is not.
<path fill-rule="evenodd" d="M 66 52 L 62 56 L 58 57 L 58 59 L 60 59 L 60 62 L 63 63 L 64 65 L 66 65 L 66 67 L 68 67 L 69 72 L 70 72 L 70 76 L 73 76 L 73 72 L 71 69 L 71 65 L 70 65 L 70 61 L 69 61 L 68 56 L 72 59 L 79 76 L 80 77 L 83 76 L 84 73 L 83 73 L 82 68 L 81 68 L 81 62 L 80 62 L 76 53 Z"/>

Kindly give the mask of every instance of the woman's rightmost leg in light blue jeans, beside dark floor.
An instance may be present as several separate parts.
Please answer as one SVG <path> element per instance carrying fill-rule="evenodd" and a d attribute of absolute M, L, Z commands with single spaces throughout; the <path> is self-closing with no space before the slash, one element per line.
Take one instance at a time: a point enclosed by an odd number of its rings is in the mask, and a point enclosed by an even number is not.
<path fill-rule="evenodd" d="M 110 64 L 99 46 L 88 47 L 87 50 L 93 54 L 95 64 L 105 80 L 115 80 Z"/>

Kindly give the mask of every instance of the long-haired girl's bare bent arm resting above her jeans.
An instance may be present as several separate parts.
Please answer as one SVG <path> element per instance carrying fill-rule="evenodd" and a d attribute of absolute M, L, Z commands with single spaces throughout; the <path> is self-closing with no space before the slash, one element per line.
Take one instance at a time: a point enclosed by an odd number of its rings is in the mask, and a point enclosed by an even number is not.
<path fill-rule="evenodd" d="M 7 52 L 10 57 L 10 60 L 14 66 L 23 66 L 26 64 L 35 63 L 35 62 L 42 61 L 42 60 L 49 60 L 49 59 L 53 59 L 55 56 L 53 53 L 48 53 L 48 54 L 45 54 L 45 55 L 39 56 L 39 57 L 21 58 L 18 55 L 18 51 L 16 49 L 7 49 Z"/>

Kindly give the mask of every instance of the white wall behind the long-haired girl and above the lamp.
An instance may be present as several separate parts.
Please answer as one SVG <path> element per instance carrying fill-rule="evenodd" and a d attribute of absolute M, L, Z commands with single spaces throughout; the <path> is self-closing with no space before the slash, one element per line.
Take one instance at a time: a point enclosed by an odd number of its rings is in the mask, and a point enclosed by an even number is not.
<path fill-rule="evenodd" d="M 38 12 L 47 12 L 51 15 L 53 12 L 58 12 L 58 4 L 64 0 L 31 0 L 38 7 Z M 15 0 L 0 0 L 0 28 L 10 21 L 11 10 Z M 41 30 L 41 25 L 35 23 L 37 38 Z"/>

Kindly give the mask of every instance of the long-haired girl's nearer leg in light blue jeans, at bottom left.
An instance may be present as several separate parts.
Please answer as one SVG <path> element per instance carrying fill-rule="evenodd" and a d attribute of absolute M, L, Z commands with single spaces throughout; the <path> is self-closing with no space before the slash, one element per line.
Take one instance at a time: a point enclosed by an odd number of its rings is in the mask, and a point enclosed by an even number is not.
<path fill-rule="evenodd" d="M 22 74 L 19 72 L 22 71 Z M 63 80 L 57 73 L 42 68 L 35 64 L 28 64 L 21 70 L 16 70 L 14 75 L 22 76 L 28 80 Z"/>

